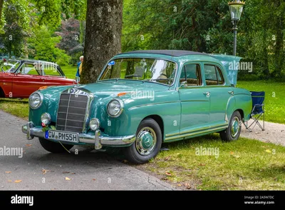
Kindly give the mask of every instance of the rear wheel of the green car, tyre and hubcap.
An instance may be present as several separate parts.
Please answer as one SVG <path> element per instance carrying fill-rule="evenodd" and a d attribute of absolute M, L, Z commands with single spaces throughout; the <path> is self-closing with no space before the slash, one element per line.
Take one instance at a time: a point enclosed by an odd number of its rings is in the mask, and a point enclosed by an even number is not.
<path fill-rule="evenodd" d="M 229 126 L 224 131 L 219 132 L 219 136 L 223 141 L 234 141 L 239 139 L 239 135 L 242 131 L 242 116 L 239 111 L 234 111 L 232 118 L 229 121 Z"/>

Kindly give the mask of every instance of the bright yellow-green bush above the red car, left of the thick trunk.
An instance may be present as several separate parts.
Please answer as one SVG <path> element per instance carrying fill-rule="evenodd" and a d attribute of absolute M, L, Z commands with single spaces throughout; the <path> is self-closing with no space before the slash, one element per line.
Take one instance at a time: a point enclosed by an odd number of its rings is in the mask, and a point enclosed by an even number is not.
<path fill-rule="evenodd" d="M 61 36 L 53 36 L 53 32 L 47 26 L 40 26 L 35 29 L 33 36 L 28 39 L 29 56 L 33 59 L 66 65 L 70 56 L 65 51 L 56 48 L 56 44 L 61 41 Z"/>

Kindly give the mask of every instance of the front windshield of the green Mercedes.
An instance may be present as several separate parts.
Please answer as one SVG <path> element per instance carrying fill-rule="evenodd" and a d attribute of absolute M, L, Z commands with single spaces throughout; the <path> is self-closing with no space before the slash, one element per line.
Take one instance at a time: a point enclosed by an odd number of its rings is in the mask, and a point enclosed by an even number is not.
<path fill-rule="evenodd" d="M 135 79 L 172 85 L 177 65 L 160 59 L 128 58 L 110 61 L 99 80 Z"/>

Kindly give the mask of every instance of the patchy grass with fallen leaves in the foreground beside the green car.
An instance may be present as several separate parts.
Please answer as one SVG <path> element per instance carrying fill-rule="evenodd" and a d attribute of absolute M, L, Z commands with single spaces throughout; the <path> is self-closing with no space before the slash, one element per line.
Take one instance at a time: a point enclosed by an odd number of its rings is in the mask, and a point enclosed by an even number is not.
<path fill-rule="evenodd" d="M 183 189 L 285 189 L 285 163 L 281 161 L 285 159 L 284 146 L 244 138 L 224 143 L 217 134 L 165 146 L 170 150 L 161 151 L 138 169 L 152 171 Z M 217 153 L 203 155 L 203 149 Z"/>

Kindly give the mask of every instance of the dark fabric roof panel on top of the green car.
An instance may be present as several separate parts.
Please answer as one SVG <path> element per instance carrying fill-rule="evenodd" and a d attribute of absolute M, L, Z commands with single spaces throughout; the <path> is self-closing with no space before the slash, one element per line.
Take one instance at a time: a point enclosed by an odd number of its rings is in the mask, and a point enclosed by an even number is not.
<path fill-rule="evenodd" d="M 137 51 L 128 51 L 119 55 L 123 54 L 161 54 L 161 55 L 166 55 L 166 56 L 175 56 L 175 57 L 180 57 L 180 56 L 190 56 L 190 55 L 204 55 L 204 56 L 209 56 L 208 54 L 204 54 L 201 52 L 197 51 L 186 51 L 186 50 L 137 50 Z"/>

